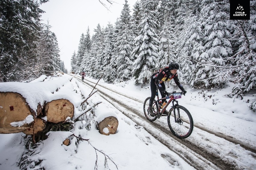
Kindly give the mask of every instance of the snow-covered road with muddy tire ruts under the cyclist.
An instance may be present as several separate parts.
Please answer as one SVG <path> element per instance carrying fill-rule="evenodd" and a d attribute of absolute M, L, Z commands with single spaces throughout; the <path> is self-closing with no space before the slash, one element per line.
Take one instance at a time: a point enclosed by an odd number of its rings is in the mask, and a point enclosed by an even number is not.
<path fill-rule="evenodd" d="M 96 81 L 85 79 L 84 84 L 93 88 Z M 256 169 L 255 133 L 251 134 L 250 130 L 244 130 L 243 136 L 237 133 L 242 129 L 253 128 L 255 123 L 230 119 L 218 112 L 212 114 L 212 110 L 184 103 L 181 105 L 193 116 L 194 130 L 187 139 L 178 139 L 170 132 L 166 117 L 154 122 L 145 118 L 143 102 L 148 96 L 135 96 L 133 93 L 129 94 L 127 89 L 118 87 L 117 90 L 116 86 L 111 88 L 110 84 L 103 83 L 99 83 L 96 89 L 103 99 L 142 126 L 195 169 L 230 169 L 235 166 Z M 207 116 L 202 116 L 202 113 Z M 233 127 L 230 128 L 230 125 Z"/>

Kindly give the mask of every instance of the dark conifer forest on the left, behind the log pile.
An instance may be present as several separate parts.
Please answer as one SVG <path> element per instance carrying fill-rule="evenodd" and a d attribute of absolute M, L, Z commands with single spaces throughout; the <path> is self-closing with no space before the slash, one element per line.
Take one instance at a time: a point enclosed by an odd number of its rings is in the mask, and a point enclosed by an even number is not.
<path fill-rule="evenodd" d="M 0 82 L 67 73 L 56 35 L 40 23 L 39 6 L 47 1 L 0 0 Z"/>

